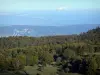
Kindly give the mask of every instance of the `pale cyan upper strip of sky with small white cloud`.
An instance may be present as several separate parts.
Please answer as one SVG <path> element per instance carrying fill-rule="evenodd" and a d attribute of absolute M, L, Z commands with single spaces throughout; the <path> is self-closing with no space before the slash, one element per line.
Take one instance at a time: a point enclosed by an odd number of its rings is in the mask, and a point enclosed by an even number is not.
<path fill-rule="evenodd" d="M 100 9 L 100 0 L 0 0 L 0 12 Z"/>

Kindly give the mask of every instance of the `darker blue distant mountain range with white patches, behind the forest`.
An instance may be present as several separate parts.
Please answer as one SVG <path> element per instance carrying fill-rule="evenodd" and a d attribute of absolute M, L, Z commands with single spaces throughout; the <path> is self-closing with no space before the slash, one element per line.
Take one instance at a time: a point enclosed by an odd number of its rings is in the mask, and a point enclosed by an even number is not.
<path fill-rule="evenodd" d="M 0 36 L 53 36 L 53 35 L 70 35 L 87 32 L 96 28 L 97 25 L 68 25 L 68 26 L 31 26 L 31 25 L 12 25 L 1 26 Z"/>

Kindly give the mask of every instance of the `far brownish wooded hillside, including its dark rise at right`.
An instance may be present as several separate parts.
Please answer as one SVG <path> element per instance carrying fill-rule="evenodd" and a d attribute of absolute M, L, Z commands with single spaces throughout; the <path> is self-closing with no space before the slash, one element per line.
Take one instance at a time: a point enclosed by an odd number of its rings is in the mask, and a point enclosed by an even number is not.
<path fill-rule="evenodd" d="M 25 46 L 38 46 L 49 44 L 64 44 L 66 42 L 78 42 L 78 41 L 91 41 L 92 43 L 100 42 L 100 27 L 89 30 L 86 33 L 79 35 L 59 35 L 59 36 L 45 36 L 45 37 L 28 37 L 28 36 L 12 36 L 1 37 L 0 48 L 15 48 Z"/>

